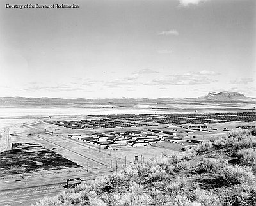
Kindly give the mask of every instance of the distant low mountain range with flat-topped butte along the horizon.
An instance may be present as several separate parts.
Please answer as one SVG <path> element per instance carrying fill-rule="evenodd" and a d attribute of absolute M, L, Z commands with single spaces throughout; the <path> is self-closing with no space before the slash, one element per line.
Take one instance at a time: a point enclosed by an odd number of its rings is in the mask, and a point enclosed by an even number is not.
<path fill-rule="evenodd" d="M 196 102 L 241 102 L 241 103 L 256 103 L 256 98 L 248 98 L 244 94 L 238 92 L 210 92 L 205 96 L 198 98 L 122 98 L 122 99 L 62 99 L 62 98 L 24 98 L 24 97 L 0 97 L 0 105 L 12 106 L 12 105 L 95 105 L 97 106 L 118 106 L 118 107 L 132 107 L 134 105 L 142 104 L 163 104 L 172 101 L 196 101 Z"/>

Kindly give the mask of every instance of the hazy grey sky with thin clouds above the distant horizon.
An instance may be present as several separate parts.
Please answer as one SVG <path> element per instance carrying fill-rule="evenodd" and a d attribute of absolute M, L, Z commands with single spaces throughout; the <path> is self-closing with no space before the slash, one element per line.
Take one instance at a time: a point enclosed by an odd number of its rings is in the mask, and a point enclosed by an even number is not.
<path fill-rule="evenodd" d="M 256 97 L 255 11 L 255 0 L 2 0 L 0 96 Z"/>

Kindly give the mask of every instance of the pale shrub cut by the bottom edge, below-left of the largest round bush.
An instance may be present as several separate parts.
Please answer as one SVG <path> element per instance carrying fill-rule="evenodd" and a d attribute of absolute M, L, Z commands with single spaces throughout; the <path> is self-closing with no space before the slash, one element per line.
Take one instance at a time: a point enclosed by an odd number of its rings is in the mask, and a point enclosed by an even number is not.
<path fill-rule="evenodd" d="M 204 189 L 196 189 L 192 195 L 195 202 L 204 206 L 220 206 L 220 198 L 212 191 L 205 191 Z"/>

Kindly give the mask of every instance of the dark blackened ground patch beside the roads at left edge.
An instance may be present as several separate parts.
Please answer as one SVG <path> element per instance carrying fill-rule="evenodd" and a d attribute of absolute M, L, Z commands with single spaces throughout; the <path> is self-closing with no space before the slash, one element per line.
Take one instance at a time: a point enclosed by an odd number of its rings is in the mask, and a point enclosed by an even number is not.
<path fill-rule="evenodd" d="M 0 153 L 0 176 L 38 172 L 41 170 L 60 170 L 78 168 L 76 163 L 63 158 L 60 154 L 36 143 L 22 143 Z"/>

